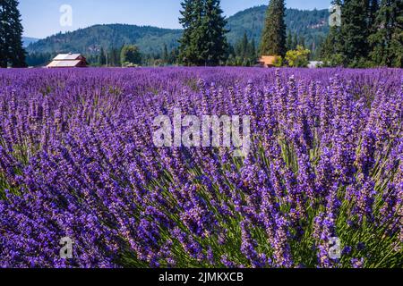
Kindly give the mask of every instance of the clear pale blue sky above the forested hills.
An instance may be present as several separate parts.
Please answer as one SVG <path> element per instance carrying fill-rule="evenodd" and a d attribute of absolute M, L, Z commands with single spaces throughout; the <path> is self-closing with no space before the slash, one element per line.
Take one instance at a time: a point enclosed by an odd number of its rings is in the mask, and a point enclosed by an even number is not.
<path fill-rule="evenodd" d="M 94 24 L 127 23 L 161 28 L 181 28 L 177 19 L 181 0 L 20 0 L 24 36 L 46 38 L 59 31 L 86 28 Z M 246 8 L 268 4 L 269 0 L 222 0 L 227 16 Z M 60 24 L 60 7 L 73 9 L 73 25 Z M 287 7 L 325 9 L 330 0 L 286 0 Z"/>

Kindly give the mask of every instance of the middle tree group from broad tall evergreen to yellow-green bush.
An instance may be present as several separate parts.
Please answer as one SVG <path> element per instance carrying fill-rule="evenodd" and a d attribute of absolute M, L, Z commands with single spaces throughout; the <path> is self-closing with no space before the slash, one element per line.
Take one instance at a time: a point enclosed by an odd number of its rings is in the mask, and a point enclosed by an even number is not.
<path fill-rule="evenodd" d="M 304 48 L 304 37 L 286 35 L 286 7 L 283 0 L 271 0 L 256 44 L 246 32 L 235 46 L 227 43 L 227 20 L 219 0 L 185 0 L 182 3 L 184 36 L 180 40 L 178 62 L 184 65 L 253 66 L 260 55 L 277 55 L 276 65 L 306 66 L 311 52 Z"/>

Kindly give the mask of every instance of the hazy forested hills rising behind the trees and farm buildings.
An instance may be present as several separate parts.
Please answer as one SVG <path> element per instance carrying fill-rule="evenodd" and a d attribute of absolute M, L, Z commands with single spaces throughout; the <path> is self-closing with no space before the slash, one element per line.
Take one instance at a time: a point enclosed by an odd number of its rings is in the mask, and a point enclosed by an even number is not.
<path fill-rule="evenodd" d="M 235 44 L 244 36 L 260 41 L 264 17 L 267 6 L 257 6 L 243 12 L 236 13 L 228 18 L 227 34 L 231 44 Z M 288 9 L 286 16 L 287 28 L 298 38 L 304 37 L 306 46 L 312 43 L 319 44 L 320 37 L 324 37 L 329 31 L 327 10 L 299 11 Z M 150 26 L 135 26 L 125 24 L 95 25 L 86 29 L 78 29 L 73 32 L 59 33 L 54 36 L 41 39 L 27 47 L 29 53 L 82 53 L 94 55 L 100 47 L 109 49 L 120 47 L 124 44 L 135 44 L 140 47 L 142 53 L 160 53 L 166 44 L 168 49 L 178 45 L 178 39 L 182 35 L 181 29 L 160 29 Z"/>

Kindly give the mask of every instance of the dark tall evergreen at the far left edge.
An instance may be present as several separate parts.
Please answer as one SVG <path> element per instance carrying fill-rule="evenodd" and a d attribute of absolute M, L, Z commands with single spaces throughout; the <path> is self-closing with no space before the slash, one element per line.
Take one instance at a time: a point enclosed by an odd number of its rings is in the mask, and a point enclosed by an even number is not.
<path fill-rule="evenodd" d="M 0 1 L 0 66 L 26 67 L 22 47 L 21 13 L 17 0 Z"/>

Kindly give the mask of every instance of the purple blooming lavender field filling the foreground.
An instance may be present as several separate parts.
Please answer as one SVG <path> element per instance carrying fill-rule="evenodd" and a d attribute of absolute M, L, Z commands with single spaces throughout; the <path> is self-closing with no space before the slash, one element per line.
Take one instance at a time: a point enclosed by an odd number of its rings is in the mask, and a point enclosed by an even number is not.
<path fill-rule="evenodd" d="M 0 267 L 401 268 L 402 88 L 398 69 L 0 70 Z M 175 108 L 250 116 L 250 152 L 156 147 Z"/>

